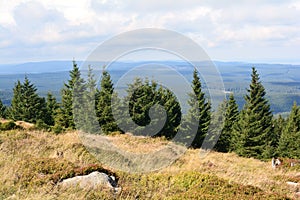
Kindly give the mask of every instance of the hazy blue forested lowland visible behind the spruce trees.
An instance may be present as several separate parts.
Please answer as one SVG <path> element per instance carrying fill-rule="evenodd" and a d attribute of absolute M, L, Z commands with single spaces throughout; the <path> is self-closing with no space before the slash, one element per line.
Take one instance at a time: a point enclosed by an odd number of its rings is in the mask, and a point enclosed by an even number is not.
<path fill-rule="evenodd" d="M 82 62 L 77 62 L 80 66 Z M 113 81 L 133 66 L 147 64 L 148 62 L 119 62 L 108 68 Z M 192 70 L 185 63 L 176 61 L 159 62 L 172 66 L 185 77 L 191 77 Z M 287 64 L 259 64 L 241 62 L 214 62 L 219 69 L 224 81 L 225 90 L 234 92 L 237 103 L 241 107 L 244 104 L 243 95 L 248 88 L 251 67 L 255 66 L 260 72 L 261 80 L 266 88 L 268 99 L 274 114 L 290 111 L 294 101 L 300 103 L 300 65 Z M 103 63 L 97 66 L 101 69 Z M 199 66 L 201 67 L 201 63 Z M 63 83 L 68 78 L 68 71 L 72 69 L 71 61 L 47 61 L 24 64 L 0 65 L 0 98 L 6 105 L 10 104 L 12 88 L 17 80 L 23 80 L 24 76 L 37 86 L 39 94 L 45 96 L 48 91 L 59 100 L 59 93 Z M 172 77 L 170 77 L 172 78 Z M 175 79 L 176 80 L 176 79 Z M 205 84 L 204 84 L 205 87 Z"/>

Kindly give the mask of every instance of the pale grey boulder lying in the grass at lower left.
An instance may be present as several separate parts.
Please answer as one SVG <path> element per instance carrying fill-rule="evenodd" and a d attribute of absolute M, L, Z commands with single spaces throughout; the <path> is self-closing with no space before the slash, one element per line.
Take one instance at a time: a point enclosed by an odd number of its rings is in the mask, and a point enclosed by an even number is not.
<path fill-rule="evenodd" d="M 98 171 L 84 176 L 75 176 L 73 178 L 65 179 L 59 183 L 59 186 L 63 188 L 78 186 L 83 189 L 96 189 L 99 186 L 103 186 L 113 189 L 114 192 L 119 192 L 120 190 L 120 188 L 117 188 L 117 183 L 114 178 Z"/>

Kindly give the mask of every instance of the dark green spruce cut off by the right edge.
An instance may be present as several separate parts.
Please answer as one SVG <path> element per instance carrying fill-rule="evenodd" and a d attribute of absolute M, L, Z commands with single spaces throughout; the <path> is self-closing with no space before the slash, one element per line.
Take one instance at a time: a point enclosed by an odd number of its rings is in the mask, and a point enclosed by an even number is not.
<path fill-rule="evenodd" d="M 300 158 L 300 108 L 296 102 L 279 140 L 278 154 L 282 157 Z"/>

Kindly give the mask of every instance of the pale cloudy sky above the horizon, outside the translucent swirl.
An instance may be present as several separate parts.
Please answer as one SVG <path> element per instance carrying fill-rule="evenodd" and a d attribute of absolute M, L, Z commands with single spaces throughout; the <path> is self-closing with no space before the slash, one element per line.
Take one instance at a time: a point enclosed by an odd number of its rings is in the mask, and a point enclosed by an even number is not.
<path fill-rule="evenodd" d="M 0 0 L 0 64 L 84 60 L 138 28 L 177 31 L 213 60 L 300 64 L 300 1 L 289 0 Z"/>

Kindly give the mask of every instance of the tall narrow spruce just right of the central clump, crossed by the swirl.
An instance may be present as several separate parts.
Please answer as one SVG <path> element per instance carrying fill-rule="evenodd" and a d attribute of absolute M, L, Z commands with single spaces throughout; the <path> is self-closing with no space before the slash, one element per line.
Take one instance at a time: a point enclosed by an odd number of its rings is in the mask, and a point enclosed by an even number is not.
<path fill-rule="evenodd" d="M 196 69 L 193 73 L 192 88 L 193 93 L 190 94 L 188 101 L 191 108 L 183 119 L 181 126 L 183 136 L 181 136 L 179 142 L 186 143 L 185 140 L 189 141 L 192 137 L 191 133 L 195 131 L 195 127 L 198 127 L 190 147 L 200 148 L 210 125 L 211 104 L 206 100 L 205 94 L 202 92 L 200 78 Z"/>

